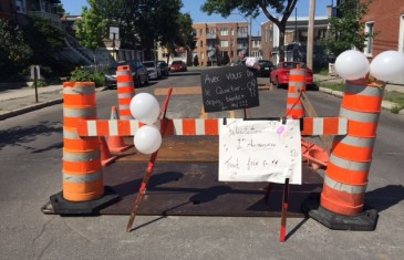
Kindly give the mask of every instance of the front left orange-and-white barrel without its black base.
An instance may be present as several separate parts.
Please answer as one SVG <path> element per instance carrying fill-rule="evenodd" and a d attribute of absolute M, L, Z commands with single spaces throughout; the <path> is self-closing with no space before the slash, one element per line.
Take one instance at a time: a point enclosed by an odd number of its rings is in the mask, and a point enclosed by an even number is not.
<path fill-rule="evenodd" d="M 76 127 L 80 121 L 96 119 L 93 82 L 63 84 L 63 198 L 87 201 L 104 193 L 97 137 L 82 139 Z"/>

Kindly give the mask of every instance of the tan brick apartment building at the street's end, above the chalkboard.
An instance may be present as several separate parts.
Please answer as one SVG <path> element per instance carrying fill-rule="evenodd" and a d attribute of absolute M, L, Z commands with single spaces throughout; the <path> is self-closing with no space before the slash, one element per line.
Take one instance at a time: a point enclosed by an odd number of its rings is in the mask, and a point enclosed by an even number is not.
<path fill-rule="evenodd" d="M 193 58 L 199 65 L 220 65 L 248 55 L 248 22 L 194 23 L 197 41 Z"/>

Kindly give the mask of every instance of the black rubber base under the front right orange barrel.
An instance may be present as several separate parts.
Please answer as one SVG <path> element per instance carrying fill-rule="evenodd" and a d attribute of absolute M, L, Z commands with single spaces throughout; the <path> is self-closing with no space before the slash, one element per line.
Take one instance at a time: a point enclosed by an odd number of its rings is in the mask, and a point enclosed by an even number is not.
<path fill-rule="evenodd" d="M 376 228 L 377 210 L 365 206 L 356 216 L 344 216 L 320 206 L 320 194 L 311 194 L 302 204 L 302 211 L 330 229 L 373 231 Z"/>

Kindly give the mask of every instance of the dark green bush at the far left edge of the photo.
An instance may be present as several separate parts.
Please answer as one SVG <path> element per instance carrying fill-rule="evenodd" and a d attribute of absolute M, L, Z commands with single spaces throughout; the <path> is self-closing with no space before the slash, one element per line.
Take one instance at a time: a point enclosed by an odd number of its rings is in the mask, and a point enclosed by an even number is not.
<path fill-rule="evenodd" d="M 8 79 L 28 65 L 31 48 L 24 42 L 23 32 L 0 19 L 0 77 Z"/>

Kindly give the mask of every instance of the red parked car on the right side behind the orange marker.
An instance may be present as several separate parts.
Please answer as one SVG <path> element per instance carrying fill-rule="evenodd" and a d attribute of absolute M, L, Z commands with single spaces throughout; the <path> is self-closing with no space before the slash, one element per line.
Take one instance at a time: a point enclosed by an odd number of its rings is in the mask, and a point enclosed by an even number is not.
<path fill-rule="evenodd" d="M 289 72 L 291 69 L 297 69 L 300 65 L 305 70 L 305 84 L 311 86 L 313 84 L 313 72 L 303 62 L 279 62 L 274 70 L 271 71 L 271 83 L 276 87 L 289 84 Z"/>

